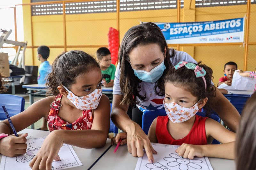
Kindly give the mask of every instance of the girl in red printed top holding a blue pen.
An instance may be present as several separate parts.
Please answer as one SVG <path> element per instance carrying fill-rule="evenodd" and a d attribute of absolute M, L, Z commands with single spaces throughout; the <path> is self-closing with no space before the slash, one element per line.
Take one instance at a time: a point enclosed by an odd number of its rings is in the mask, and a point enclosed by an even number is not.
<path fill-rule="evenodd" d="M 101 82 L 98 63 L 85 52 L 64 52 L 55 59 L 46 84 L 48 93 L 53 96 L 39 100 L 11 117 L 17 132 L 42 117 L 48 122 L 51 133 L 30 162 L 32 169 L 51 169 L 53 159 L 60 159 L 58 152 L 64 143 L 82 148 L 98 148 L 106 144 L 110 103 L 102 94 Z M 12 134 L 7 120 L 0 123 L 0 133 Z M 0 139 L 0 153 L 10 157 L 24 154 L 27 136 L 26 133 Z"/>

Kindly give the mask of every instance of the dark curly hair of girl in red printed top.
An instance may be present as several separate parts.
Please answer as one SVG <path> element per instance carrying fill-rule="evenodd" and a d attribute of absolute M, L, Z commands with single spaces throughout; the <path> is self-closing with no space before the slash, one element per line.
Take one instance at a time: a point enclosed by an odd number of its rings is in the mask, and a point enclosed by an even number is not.
<path fill-rule="evenodd" d="M 59 94 L 57 87 L 64 85 L 68 89 L 76 82 L 76 77 L 84 74 L 93 67 L 100 69 L 97 61 L 84 51 L 68 51 L 59 55 L 52 63 L 52 72 L 48 75 L 46 86 L 47 94 Z"/>

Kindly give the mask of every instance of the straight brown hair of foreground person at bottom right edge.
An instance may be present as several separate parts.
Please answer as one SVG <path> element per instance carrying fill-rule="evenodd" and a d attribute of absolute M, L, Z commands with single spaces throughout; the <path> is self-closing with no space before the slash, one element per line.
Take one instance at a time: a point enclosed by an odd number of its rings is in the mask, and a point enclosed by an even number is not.
<path fill-rule="evenodd" d="M 244 107 L 236 134 L 236 169 L 256 169 L 256 93 Z"/>

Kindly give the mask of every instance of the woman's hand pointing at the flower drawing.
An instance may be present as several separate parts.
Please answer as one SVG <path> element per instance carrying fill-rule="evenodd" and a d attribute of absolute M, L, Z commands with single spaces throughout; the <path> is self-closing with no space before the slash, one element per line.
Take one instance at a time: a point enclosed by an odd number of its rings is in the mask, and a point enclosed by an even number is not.
<path fill-rule="evenodd" d="M 152 147 L 148 136 L 141 129 L 140 125 L 132 122 L 126 127 L 126 133 L 128 152 L 132 153 L 132 156 L 134 157 L 142 157 L 144 155 L 144 148 L 148 156 L 148 161 L 153 163 L 153 154 L 157 154 L 157 152 Z"/>

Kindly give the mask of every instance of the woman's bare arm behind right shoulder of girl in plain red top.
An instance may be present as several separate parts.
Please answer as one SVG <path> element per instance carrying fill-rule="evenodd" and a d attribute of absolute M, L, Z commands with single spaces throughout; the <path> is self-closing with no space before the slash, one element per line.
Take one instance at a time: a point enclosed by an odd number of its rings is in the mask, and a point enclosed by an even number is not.
<path fill-rule="evenodd" d="M 240 118 L 236 108 L 216 88 L 216 96 L 212 98 L 210 107 L 220 116 L 222 121 L 232 130 L 238 128 Z"/>

